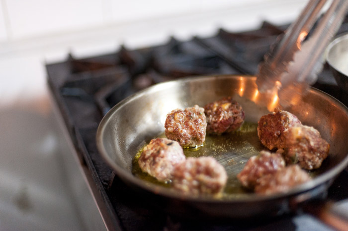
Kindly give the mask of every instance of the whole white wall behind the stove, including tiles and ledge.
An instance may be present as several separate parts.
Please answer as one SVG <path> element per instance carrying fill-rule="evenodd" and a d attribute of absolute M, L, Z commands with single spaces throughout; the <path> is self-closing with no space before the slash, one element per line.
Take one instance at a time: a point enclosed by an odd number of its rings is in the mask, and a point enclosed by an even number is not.
<path fill-rule="evenodd" d="M 0 0 L 0 106 L 42 97 L 46 61 L 293 20 L 303 0 Z"/>

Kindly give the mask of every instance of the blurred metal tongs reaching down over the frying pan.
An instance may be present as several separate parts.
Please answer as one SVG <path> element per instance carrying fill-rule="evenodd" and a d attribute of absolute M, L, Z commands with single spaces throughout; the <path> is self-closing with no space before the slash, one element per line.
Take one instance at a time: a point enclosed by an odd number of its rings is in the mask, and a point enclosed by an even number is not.
<path fill-rule="evenodd" d="M 310 0 L 259 64 L 259 91 L 276 90 L 283 106 L 296 104 L 316 82 L 323 67 L 322 55 L 347 9 L 348 0 Z"/>

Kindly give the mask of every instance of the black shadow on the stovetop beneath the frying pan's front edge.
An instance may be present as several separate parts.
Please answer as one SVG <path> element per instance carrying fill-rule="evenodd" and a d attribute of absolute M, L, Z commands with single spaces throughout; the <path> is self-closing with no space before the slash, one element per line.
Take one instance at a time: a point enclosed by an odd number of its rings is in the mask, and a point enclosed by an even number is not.
<path fill-rule="evenodd" d="M 277 218 L 250 221 L 232 221 L 226 219 L 198 217 L 192 213 L 191 217 L 183 217 L 176 213 L 168 212 L 162 200 L 149 197 L 144 192 L 134 190 L 115 176 L 108 191 L 112 194 L 112 200 L 117 216 L 122 221 L 124 230 L 127 231 L 192 231 L 192 230 L 255 230 L 261 227 L 274 226 L 293 227 L 292 215 L 279 216 Z M 134 221 L 137 221 L 134 223 Z"/>

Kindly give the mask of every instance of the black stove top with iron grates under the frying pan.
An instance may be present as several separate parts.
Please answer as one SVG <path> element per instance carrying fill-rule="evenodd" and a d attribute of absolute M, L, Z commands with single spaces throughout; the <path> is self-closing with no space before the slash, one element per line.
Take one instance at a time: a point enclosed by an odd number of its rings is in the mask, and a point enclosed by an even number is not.
<path fill-rule="evenodd" d="M 255 74 L 258 63 L 276 36 L 288 25 L 263 22 L 259 29 L 233 33 L 220 29 L 209 38 L 168 43 L 144 49 L 118 51 L 91 58 L 74 58 L 47 64 L 48 83 L 81 164 L 92 175 L 105 210 L 109 230 L 330 230 L 309 214 L 288 214 L 266 221 L 195 221 L 174 217 L 142 201 L 103 161 L 95 135 L 101 118 L 125 97 L 150 85 L 183 76 Z M 338 34 L 348 31 L 346 18 Z M 348 105 L 326 65 L 315 87 Z M 348 198 L 348 171 L 339 175 L 328 200 Z M 348 208 L 347 208 L 348 211 Z"/>

